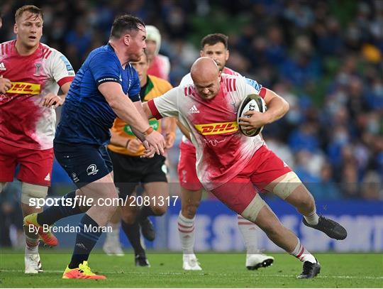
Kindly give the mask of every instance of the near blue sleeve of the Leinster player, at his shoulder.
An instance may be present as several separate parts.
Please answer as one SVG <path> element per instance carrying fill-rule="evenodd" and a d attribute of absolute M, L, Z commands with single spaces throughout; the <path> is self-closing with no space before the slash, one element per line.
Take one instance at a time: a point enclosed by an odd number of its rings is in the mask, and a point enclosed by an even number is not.
<path fill-rule="evenodd" d="M 96 53 L 96 55 L 89 60 L 89 70 L 97 86 L 104 82 L 120 83 L 121 75 L 118 63 L 116 63 L 115 59 L 111 58 L 109 53 Z"/>

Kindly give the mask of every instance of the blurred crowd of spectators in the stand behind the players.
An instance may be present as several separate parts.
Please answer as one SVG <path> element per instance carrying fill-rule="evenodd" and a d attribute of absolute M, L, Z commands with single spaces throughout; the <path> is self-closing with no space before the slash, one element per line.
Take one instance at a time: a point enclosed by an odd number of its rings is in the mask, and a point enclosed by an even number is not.
<path fill-rule="evenodd" d="M 14 11 L 1 1 L 0 42 L 14 38 Z M 383 199 L 383 1 L 44 0 L 43 43 L 78 70 L 104 45 L 116 15 L 160 29 L 160 53 L 177 85 L 208 33 L 229 36 L 227 66 L 287 99 L 289 113 L 265 127 L 268 146 L 316 200 Z M 176 146 L 177 147 L 177 146 Z M 177 148 L 170 161 L 177 165 Z M 172 180 L 176 175 L 173 168 Z M 175 181 L 175 180 L 174 180 Z"/>

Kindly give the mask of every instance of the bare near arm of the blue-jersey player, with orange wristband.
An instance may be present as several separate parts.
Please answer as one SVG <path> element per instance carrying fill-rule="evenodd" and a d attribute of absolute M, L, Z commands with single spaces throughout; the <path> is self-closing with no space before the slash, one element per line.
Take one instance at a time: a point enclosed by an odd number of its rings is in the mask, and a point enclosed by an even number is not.
<path fill-rule="evenodd" d="M 144 119 L 143 114 L 138 111 L 138 106 L 128 99 L 121 89 L 121 85 L 116 82 L 104 82 L 99 85 L 99 91 L 104 95 L 117 116 L 135 127 L 142 133 L 144 140 L 155 148 L 156 153 L 163 154 L 165 139 L 157 131 L 153 131 L 149 125 L 148 119 Z M 138 136 L 140 137 L 140 136 Z"/>

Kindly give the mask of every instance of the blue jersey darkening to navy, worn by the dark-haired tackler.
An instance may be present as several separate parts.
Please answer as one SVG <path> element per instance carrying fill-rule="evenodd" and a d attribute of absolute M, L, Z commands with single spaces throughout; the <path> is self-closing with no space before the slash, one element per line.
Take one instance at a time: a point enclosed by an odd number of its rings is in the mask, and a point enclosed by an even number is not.
<path fill-rule="evenodd" d="M 70 86 L 57 126 L 55 143 L 106 145 L 116 114 L 99 92 L 104 82 L 118 82 L 132 102 L 140 101 L 140 79 L 135 69 L 121 66 L 111 45 L 93 50 Z"/>

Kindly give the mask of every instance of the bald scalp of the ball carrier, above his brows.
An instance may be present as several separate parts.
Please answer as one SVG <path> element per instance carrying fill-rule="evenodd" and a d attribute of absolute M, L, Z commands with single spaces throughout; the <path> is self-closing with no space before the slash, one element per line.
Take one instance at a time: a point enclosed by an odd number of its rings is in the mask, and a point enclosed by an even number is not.
<path fill-rule="evenodd" d="M 194 82 L 209 82 L 219 76 L 219 67 L 211 58 L 198 58 L 191 65 L 190 75 Z"/>

